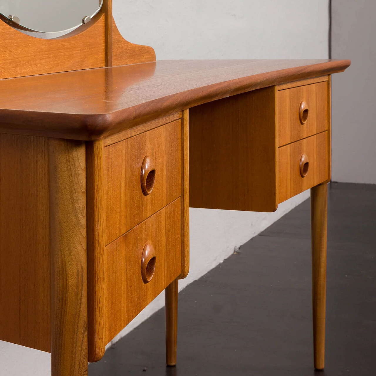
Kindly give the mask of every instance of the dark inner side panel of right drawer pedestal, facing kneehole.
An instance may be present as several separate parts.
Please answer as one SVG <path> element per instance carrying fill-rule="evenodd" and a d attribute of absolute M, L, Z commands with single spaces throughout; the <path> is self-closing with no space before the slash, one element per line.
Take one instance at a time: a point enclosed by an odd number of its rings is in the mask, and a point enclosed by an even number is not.
<path fill-rule="evenodd" d="M 270 86 L 189 110 L 191 207 L 276 210 L 275 99 Z"/>

